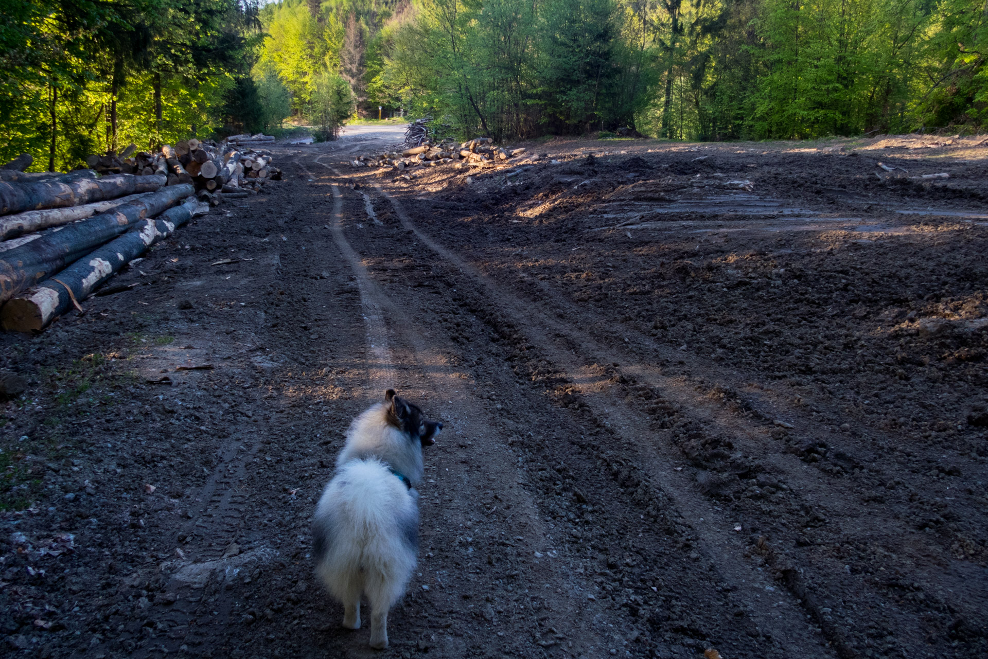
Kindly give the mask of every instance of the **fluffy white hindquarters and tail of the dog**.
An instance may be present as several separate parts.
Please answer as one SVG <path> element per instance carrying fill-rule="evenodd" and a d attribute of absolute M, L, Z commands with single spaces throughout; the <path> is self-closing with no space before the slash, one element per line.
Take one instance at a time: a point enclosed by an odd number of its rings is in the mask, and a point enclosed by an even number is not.
<path fill-rule="evenodd" d="M 390 607 L 404 593 L 418 551 L 418 505 L 409 490 L 376 459 L 342 465 L 316 508 L 316 571 L 344 604 L 366 593 Z M 385 609 L 386 611 L 386 609 Z"/>

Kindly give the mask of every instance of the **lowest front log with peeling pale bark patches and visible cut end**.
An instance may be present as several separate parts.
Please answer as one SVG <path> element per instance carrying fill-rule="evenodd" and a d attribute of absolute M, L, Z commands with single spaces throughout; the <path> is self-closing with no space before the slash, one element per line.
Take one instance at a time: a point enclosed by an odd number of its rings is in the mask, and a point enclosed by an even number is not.
<path fill-rule="evenodd" d="M 195 198 L 190 198 L 182 206 L 165 210 L 154 219 L 138 221 L 124 235 L 87 254 L 54 278 L 8 301 L 0 309 L 0 325 L 14 332 L 41 331 L 72 307 L 73 297 L 77 301 L 85 299 L 124 264 L 206 210 Z"/>

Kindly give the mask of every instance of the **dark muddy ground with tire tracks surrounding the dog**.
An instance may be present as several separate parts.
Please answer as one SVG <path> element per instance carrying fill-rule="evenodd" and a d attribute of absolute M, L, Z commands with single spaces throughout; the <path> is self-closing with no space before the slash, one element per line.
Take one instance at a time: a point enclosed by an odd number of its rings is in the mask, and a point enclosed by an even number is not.
<path fill-rule="evenodd" d="M 988 651 L 978 140 L 341 164 L 393 140 L 276 147 L 137 286 L 0 338 L 8 656 Z M 309 526 L 388 386 L 447 425 L 374 652 Z"/>

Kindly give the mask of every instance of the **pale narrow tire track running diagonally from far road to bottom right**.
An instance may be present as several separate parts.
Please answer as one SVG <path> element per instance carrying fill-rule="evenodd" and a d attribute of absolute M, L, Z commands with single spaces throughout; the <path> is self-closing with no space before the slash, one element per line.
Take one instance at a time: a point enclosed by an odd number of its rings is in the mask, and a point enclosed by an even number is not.
<path fill-rule="evenodd" d="M 590 403 L 592 408 L 596 408 L 594 411 L 598 417 L 611 418 L 613 422 L 617 422 L 613 425 L 619 426 L 621 429 L 630 428 L 632 431 L 628 433 L 616 431 L 617 436 L 648 437 L 654 435 L 654 431 L 649 428 L 647 415 L 641 414 L 638 410 L 622 409 L 625 407 L 623 401 L 616 400 L 609 394 L 611 388 L 609 380 L 614 376 L 615 371 L 602 372 L 582 363 L 580 355 L 587 352 L 598 356 L 587 360 L 588 362 L 611 362 L 609 359 L 600 357 L 602 354 L 606 355 L 607 351 L 602 349 L 595 340 L 579 333 L 572 327 L 563 326 L 541 313 L 538 313 L 538 318 L 533 323 L 533 312 L 536 311 L 533 305 L 522 306 L 520 300 L 516 299 L 512 293 L 505 292 L 472 265 L 440 245 L 411 221 L 400 202 L 389 192 L 376 182 L 373 185 L 394 207 L 402 226 L 412 231 L 425 245 L 447 260 L 461 275 L 472 280 L 475 286 L 486 293 L 482 297 L 496 299 L 499 311 L 502 313 L 503 311 L 509 312 L 509 322 L 520 328 L 525 334 L 525 339 L 535 344 L 546 355 L 549 362 L 562 370 L 562 378 L 570 383 L 577 383 L 582 399 Z M 539 322 L 542 327 L 537 327 Z M 555 341 L 546 340 L 548 337 L 554 338 Z M 556 343 L 563 345 L 556 345 Z M 587 350 L 588 347 L 591 348 L 590 351 Z M 663 384 L 666 383 L 652 384 L 652 386 L 662 387 Z M 847 647 L 839 629 L 833 626 L 823 628 L 823 634 L 826 638 L 824 640 L 807 623 L 804 616 L 798 613 L 802 608 L 807 610 L 816 620 L 825 619 L 824 613 L 814 607 L 812 602 L 800 597 L 803 594 L 802 588 L 793 586 L 789 589 L 791 599 L 788 604 L 790 606 L 763 608 L 761 596 L 766 592 L 767 576 L 759 568 L 753 567 L 740 558 L 741 554 L 746 551 L 747 544 L 742 542 L 737 534 L 729 535 L 728 532 L 713 530 L 714 528 L 732 529 L 734 522 L 724 515 L 718 515 L 719 511 L 702 499 L 690 485 L 672 477 L 669 473 L 669 466 L 660 460 L 662 456 L 673 458 L 679 452 L 663 452 L 665 455 L 642 453 L 636 448 L 632 449 L 633 444 L 633 442 L 628 443 L 625 450 L 632 451 L 638 459 L 645 463 L 645 471 L 653 483 L 657 484 L 656 489 L 662 493 L 668 493 L 669 499 L 681 516 L 679 522 L 690 526 L 691 530 L 700 536 L 702 551 L 714 569 L 722 574 L 733 588 L 742 592 L 745 604 L 755 612 L 751 614 L 751 617 L 756 620 L 761 633 L 782 641 L 782 643 L 791 643 L 792 645 L 785 649 L 786 652 L 799 653 L 803 656 L 830 656 L 827 646 L 832 644 L 840 656 L 852 656 L 853 653 Z M 658 447 L 651 448 L 654 450 Z M 616 471 L 619 473 L 620 467 Z M 701 520 L 705 524 L 700 525 L 696 522 L 687 522 L 687 520 Z M 798 574 L 798 569 L 794 574 Z M 766 602 L 766 604 L 768 603 Z M 771 605 L 769 606 L 771 607 Z"/>

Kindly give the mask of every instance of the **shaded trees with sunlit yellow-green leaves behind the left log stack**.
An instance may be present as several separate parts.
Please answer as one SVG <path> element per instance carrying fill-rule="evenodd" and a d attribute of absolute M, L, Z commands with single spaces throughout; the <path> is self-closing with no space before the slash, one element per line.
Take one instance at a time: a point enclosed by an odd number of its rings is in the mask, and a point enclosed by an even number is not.
<path fill-rule="evenodd" d="M 32 0 L 0 22 L 0 160 L 67 169 L 206 136 L 249 72 L 256 0 Z M 242 90 L 241 90 L 242 91 Z"/>

